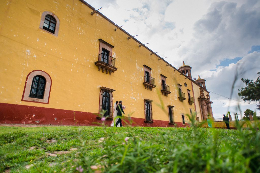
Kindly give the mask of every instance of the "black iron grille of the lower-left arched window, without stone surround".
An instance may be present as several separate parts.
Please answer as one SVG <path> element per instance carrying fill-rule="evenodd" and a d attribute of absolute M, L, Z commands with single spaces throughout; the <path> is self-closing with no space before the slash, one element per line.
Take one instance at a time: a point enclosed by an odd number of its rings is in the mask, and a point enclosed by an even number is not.
<path fill-rule="evenodd" d="M 46 79 L 43 76 L 41 75 L 35 76 L 33 78 L 29 97 L 43 99 L 45 85 L 46 85 Z"/>

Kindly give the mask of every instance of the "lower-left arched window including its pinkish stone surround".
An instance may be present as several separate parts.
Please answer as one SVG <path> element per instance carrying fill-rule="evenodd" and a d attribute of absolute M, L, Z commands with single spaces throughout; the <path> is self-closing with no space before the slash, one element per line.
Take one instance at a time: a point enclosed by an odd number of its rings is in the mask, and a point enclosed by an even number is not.
<path fill-rule="evenodd" d="M 25 80 L 22 101 L 49 103 L 51 77 L 42 70 L 31 71 Z"/>

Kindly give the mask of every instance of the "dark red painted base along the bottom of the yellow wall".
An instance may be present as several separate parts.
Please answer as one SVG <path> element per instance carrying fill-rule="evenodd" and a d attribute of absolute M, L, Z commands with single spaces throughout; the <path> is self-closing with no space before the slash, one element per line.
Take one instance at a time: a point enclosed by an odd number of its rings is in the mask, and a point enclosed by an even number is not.
<path fill-rule="evenodd" d="M 90 112 L 0 103 L 0 123 L 2 124 L 99 126 L 98 123 L 102 123 L 102 121 L 96 117 L 95 113 Z M 176 122 L 176 125 L 173 125 L 169 124 L 168 121 L 161 120 L 153 120 L 153 123 L 145 123 L 142 118 L 131 117 L 131 120 L 133 126 L 185 127 L 181 122 Z M 107 125 L 110 123 L 112 121 L 105 122 Z M 122 124 L 123 126 L 126 125 L 124 122 Z"/>

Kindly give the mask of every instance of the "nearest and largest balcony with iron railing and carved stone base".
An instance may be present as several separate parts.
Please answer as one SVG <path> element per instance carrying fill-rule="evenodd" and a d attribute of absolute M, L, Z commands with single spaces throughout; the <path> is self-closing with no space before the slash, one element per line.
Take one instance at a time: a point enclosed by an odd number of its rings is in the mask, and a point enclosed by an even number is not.
<path fill-rule="evenodd" d="M 98 61 L 95 62 L 95 65 L 99 67 L 98 71 L 102 68 L 102 72 L 106 71 L 106 74 L 109 72 L 110 75 L 117 70 L 115 67 L 115 58 L 105 53 L 99 54 Z"/>

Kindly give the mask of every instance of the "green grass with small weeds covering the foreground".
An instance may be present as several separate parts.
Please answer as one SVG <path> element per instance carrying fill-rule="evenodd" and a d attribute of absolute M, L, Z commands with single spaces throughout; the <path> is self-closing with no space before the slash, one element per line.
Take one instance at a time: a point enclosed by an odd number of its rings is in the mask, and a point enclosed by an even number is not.
<path fill-rule="evenodd" d="M 260 172 L 259 127 L 0 127 L 0 172 Z"/>

